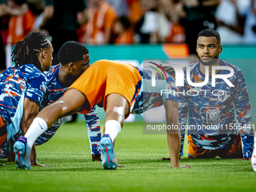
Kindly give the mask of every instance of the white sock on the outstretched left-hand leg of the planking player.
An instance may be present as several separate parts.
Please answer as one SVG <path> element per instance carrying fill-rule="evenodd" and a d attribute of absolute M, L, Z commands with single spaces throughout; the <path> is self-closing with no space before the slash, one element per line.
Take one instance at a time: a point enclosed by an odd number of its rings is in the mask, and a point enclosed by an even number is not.
<path fill-rule="evenodd" d="M 35 117 L 29 130 L 26 132 L 26 141 L 28 142 L 29 148 L 32 148 L 36 139 L 47 130 L 47 123 L 40 117 Z"/>

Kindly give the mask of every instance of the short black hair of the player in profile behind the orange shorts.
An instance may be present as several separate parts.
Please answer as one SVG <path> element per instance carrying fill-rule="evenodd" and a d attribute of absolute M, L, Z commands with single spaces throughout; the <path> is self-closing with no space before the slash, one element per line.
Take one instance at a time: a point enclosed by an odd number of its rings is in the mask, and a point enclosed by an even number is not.
<path fill-rule="evenodd" d="M 59 49 L 58 57 L 62 66 L 65 66 L 69 62 L 77 62 L 84 59 L 83 55 L 88 54 L 89 50 L 84 44 L 76 41 L 67 41 Z"/>

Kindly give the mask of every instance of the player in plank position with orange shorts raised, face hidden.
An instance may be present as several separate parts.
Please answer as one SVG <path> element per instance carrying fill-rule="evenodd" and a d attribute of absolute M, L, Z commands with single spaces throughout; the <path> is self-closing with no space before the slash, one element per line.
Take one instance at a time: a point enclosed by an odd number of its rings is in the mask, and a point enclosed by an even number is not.
<path fill-rule="evenodd" d="M 154 90 L 151 87 L 152 70 L 157 74 L 158 86 Z M 165 105 L 167 123 L 179 127 L 178 99 L 172 94 L 160 95 L 161 89 L 177 91 L 174 79 L 169 77 L 167 81 L 166 75 L 157 71 L 109 60 L 95 62 L 57 102 L 40 111 L 26 136 L 15 143 L 15 151 L 20 151 L 16 154 L 17 166 L 30 169 L 28 157 L 33 143 L 57 119 L 78 111 L 87 114 L 94 105 L 102 106 L 106 112 L 105 135 L 100 142 L 104 169 L 117 167 L 113 142 L 130 112 L 139 114 Z M 161 78 L 164 76 L 166 78 Z M 171 167 L 179 167 L 180 130 L 168 130 L 167 140 Z"/>

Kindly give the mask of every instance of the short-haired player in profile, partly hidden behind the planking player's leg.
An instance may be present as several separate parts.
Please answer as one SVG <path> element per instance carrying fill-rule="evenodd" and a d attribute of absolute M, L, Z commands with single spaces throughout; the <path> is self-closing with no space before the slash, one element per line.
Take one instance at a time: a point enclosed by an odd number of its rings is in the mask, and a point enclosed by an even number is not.
<path fill-rule="evenodd" d="M 69 46 L 74 46 L 74 48 L 70 49 Z M 75 41 L 66 42 L 61 47 L 59 51 L 60 64 L 51 66 L 50 71 L 45 75 L 47 92 L 44 95 L 43 102 L 41 102 L 40 110 L 58 100 L 69 89 L 69 86 L 87 69 L 90 62 L 87 56 L 88 53 L 87 48 L 83 44 L 78 44 Z M 99 142 L 101 133 L 96 107 L 94 106 L 93 110 L 89 114 L 85 114 L 84 117 L 87 124 L 87 134 L 93 161 L 100 160 Z M 35 145 L 42 145 L 49 141 L 65 120 L 66 117 L 62 117 L 56 123 L 53 123 L 46 132 L 38 137 Z"/>

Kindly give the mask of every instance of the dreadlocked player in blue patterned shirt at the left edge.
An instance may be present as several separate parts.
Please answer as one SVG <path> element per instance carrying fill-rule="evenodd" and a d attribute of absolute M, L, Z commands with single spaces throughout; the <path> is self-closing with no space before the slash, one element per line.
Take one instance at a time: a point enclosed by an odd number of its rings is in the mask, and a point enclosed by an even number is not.
<path fill-rule="evenodd" d="M 11 155 L 14 142 L 38 114 L 47 89 L 43 72 L 50 69 L 52 53 L 45 35 L 30 33 L 14 48 L 11 56 L 16 65 L 0 75 L 0 159 Z M 36 164 L 32 158 L 32 165 Z"/>

